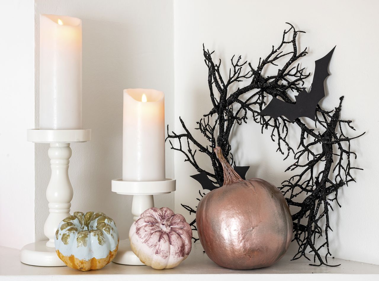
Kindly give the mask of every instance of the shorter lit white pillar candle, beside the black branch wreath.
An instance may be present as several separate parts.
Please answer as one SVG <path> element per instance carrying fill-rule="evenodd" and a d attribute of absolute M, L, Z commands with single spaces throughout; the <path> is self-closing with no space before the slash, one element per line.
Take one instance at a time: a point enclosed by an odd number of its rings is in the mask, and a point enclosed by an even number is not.
<path fill-rule="evenodd" d="M 122 180 L 165 180 L 164 93 L 124 90 Z"/>

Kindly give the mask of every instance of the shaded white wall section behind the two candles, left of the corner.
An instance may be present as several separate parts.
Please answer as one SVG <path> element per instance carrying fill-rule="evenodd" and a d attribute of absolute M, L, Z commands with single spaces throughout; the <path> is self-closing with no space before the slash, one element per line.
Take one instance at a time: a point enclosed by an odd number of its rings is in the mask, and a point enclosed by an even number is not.
<path fill-rule="evenodd" d="M 39 14 L 83 21 L 83 127 L 88 143 L 71 144 L 69 175 L 74 188 L 71 212 L 103 211 L 117 222 L 120 238 L 132 223 L 132 197 L 111 192 L 122 177 L 122 91 L 155 88 L 166 94 L 166 123 L 173 123 L 172 1 L 36 0 L 36 81 Z M 38 87 L 36 87 L 38 105 Z M 36 109 L 38 118 L 38 109 Z M 36 240 L 45 239 L 45 197 L 50 178 L 47 144 L 36 144 Z M 174 176 L 173 154 L 166 149 L 166 175 Z M 173 208 L 174 195 L 155 196 L 156 206 Z"/>

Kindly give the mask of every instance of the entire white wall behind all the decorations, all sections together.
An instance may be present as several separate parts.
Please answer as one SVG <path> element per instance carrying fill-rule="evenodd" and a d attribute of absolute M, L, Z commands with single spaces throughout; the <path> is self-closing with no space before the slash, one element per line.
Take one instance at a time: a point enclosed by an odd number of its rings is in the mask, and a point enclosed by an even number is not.
<path fill-rule="evenodd" d="M 299 36 L 299 45 L 309 47 L 301 64 L 310 72 L 315 59 L 337 45 L 329 67 L 331 76 L 325 84 L 327 96 L 321 104 L 333 109 L 338 98 L 345 95 L 341 117 L 354 120 L 356 134 L 366 131 L 352 142 L 352 150 L 358 154 L 355 164 L 365 170 L 356 172 L 357 183 L 344 186 L 339 193 L 342 208 L 335 208 L 332 215 L 335 231 L 330 238 L 331 251 L 338 258 L 379 264 L 379 191 L 374 161 L 379 156 L 375 75 L 379 61 L 378 8 L 376 1 L 350 0 L 24 0 L 7 4 L 1 9 L 5 39 L 0 45 L 0 218 L 2 224 L 9 220 L 15 223 L 11 223 L 11 232 L 0 232 L 0 244 L 20 248 L 34 236 L 36 240 L 44 239 L 42 229 L 48 212 L 45 188 L 50 177 L 48 146 L 25 141 L 25 130 L 38 127 L 40 13 L 83 20 L 83 126 L 92 129 L 92 141 L 72 144 L 71 210 L 104 211 L 116 220 L 121 239 L 126 238 L 132 221 L 131 198 L 113 194 L 110 181 L 121 177 L 122 90 L 162 90 L 166 94 L 166 123 L 180 132 L 178 121 L 182 116 L 193 129 L 211 108 L 202 44 L 216 50 L 214 57 L 222 59 L 225 70 L 233 54 L 242 55 L 255 66 L 260 56 L 280 43 L 282 31 L 287 28 L 285 22 L 291 22 L 307 32 Z M 296 133 L 294 130 L 294 141 Z M 237 165 L 251 166 L 247 177 L 262 177 L 277 186 L 290 177 L 284 170 L 293 160 L 282 161 L 268 132 L 260 134 L 257 124 L 236 127 L 232 145 Z M 194 216 L 189 216 L 180 203 L 196 205 L 199 184 L 189 178 L 196 171 L 183 162 L 181 154 L 172 154 L 166 148 L 168 177 L 174 176 L 174 161 L 175 204 L 170 194 L 156 197 L 156 205 L 175 205 L 176 212 L 192 221 Z"/>

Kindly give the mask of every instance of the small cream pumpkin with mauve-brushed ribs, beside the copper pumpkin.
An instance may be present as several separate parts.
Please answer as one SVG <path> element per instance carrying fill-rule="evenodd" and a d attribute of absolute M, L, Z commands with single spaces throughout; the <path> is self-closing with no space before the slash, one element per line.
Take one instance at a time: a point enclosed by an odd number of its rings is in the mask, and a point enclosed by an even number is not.
<path fill-rule="evenodd" d="M 173 268 L 191 252 L 192 229 L 181 214 L 167 208 L 144 211 L 129 231 L 136 256 L 154 269 Z"/>

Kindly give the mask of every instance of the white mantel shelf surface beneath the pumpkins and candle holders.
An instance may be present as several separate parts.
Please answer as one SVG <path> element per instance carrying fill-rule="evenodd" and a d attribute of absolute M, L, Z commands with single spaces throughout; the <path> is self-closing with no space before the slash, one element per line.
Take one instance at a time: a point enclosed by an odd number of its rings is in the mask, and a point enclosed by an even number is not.
<path fill-rule="evenodd" d="M 189 257 L 174 269 L 155 270 L 144 265 L 121 265 L 111 262 L 101 270 L 80 272 L 69 267 L 40 267 L 22 264 L 20 250 L 0 247 L 0 280 L 379 280 L 379 265 L 331 259 L 339 267 L 314 267 L 305 259 L 290 261 L 285 255 L 279 262 L 264 269 L 231 270 L 219 267 L 202 252 L 200 244 L 194 244 Z M 296 276 L 294 276 L 296 275 Z M 322 276 L 320 276 L 322 275 Z M 321 279 L 322 278 L 322 279 Z"/>

